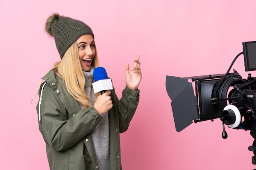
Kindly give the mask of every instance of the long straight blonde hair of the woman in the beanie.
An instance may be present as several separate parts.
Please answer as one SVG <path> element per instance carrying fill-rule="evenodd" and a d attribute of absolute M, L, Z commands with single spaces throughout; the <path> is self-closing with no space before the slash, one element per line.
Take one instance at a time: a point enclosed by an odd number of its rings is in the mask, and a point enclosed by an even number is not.
<path fill-rule="evenodd" d="M 96 46 L 94 46 L 94 49 L 95 56 L 92 61 L 92 68 L 97 68 L 99 67 L 99 61 Z M 84 91 L 85 77 L 83 75 L 83 70 L 79 60 L 77 42 L 74 42 L 67 49 L 61 61 L 56 62 L 52 69 L 54 70 L 55 75 L 58 75 L 61 79 L 63 79 L 64 84 L 61 85 L 66 86 L 70 95 L 72 95 L 74 99 L 76 99 L 76 101 L 79 102 L 79 104 L 81 104 L 83 107 L 89 108 L 90 101 L 94 101 L 90 99 Z M 99 94 L 96 94 L 96 96 L 98 95 Z"/>

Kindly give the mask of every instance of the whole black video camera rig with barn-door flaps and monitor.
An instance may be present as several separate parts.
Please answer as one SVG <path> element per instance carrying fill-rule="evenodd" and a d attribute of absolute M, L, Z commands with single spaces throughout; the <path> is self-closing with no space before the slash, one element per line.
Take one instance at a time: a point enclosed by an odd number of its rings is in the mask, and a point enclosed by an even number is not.
<path fill-rule="evenodd" d="M 254 152 L 252 163 L 256 164 L 256 78 L 249 73 L 247 79 L 243 79 L 236 70 L 229 73 L 241 54 L 244 55 L 245 71 L 256 70 L 256 41 L 242 44 L 243 52 L 234 58 L 227 73 L 183 78 L 166 75 L 166 91 L 171 99 L 177 132 L 193 121 L 217 118 L 222 121 L 223 139 L 227 138 L 225 124 L 229 128 L 250 130 L 254 142 L 248 149 Z M 194 82 L 195 95 L 189 79 Z"/>

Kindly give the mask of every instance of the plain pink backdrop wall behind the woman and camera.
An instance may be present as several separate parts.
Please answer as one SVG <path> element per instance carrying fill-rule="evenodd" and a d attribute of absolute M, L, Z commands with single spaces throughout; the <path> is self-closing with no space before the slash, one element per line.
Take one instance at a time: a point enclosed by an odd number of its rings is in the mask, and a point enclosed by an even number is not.
<path fill-rule="evenodd" d="M 165 88 L 166 75 L 225 73 L 242 42 L 256 41 L 255 7 L 255 0 L 1 0 L 0 169 L 49 169 L 30 101 L 40 78 L 60 60 L 44 32 L 52 12 L 92 28 L 100 64 L 119 97 L 125 64 L 141 55 L 140 103 L 121 134 L 124 170 L 256 168 L 249 131 L 226 127 L 229 137 L 222 139 L 216 119 L 176 132 Z M 233 68 L 247 77 L 243 55 Z"/>

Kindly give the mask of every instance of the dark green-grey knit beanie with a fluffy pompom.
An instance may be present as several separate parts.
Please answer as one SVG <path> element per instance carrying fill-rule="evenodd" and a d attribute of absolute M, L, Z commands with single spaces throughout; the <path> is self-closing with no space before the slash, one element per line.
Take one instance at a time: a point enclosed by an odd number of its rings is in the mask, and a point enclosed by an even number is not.
<path fill-rule="evenodd" d="M 94 38 L 92 29 L 85 23 L 69 17 L 53 13 L 46 21 L 45 31 L 54 37 L 61 59 L 67 49 L 82 35 L 90 34 Z"/>

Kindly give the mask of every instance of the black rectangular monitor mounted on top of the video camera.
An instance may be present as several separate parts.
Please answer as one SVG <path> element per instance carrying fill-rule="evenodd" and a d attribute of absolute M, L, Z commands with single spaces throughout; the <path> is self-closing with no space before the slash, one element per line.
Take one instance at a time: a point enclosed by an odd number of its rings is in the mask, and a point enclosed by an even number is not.
<path fill-rule="evenodd" d="M 243 42 L 245 71 L 256 70 L 256 41 Z"/>

